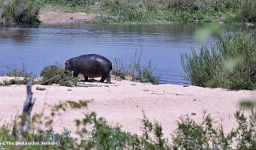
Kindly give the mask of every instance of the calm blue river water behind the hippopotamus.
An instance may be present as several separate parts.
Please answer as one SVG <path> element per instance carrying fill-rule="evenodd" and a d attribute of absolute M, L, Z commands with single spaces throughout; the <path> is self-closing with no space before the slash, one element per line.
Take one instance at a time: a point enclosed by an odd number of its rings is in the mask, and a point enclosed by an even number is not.
<path fill-rule="evenodd" d="M 194 31 L 202 25 L 41 25 L 37 28 L 0 26 L 0 74 L 7 66 L 40 74 L 47 65 L 87 53 L 104 55 L 112 62 L 130 62 L 141 53 L 142 65 L 151 65 L 161 83 L 185 84 L 180 54 L 199 48 Z M 226 31 L 247 31 L 242 25 L 224 25 Z M 92 31 L 93 30 L 93 31 Z M 209 43 L 214 40 L 209 40 Z"/>

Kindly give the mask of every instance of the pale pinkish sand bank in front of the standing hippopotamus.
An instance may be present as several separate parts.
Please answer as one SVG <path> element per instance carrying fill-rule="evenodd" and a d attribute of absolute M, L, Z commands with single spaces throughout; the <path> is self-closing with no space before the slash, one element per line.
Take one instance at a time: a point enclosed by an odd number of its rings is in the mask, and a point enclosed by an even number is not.
<path fill-rule="evenodd" d="M 3 79 L 8 80 L 0 77 L 0 81 Z M 54 130 L 60 131 L 62 127 L 68 127 L 75 131 L 74 120 L 82 118 L 83 113 L 95 111 L 98 116 L 106 118 L 108 124 L 118 122 L 124 130 L 141 133 L 140 119 L 142 110 L 145 110 L 151 121 L 160 121 L 165 136 L 169 136 L 177 127 L 175 121 L 178 117 L 189 115 L 194 120 L 201 121 L 203 110 L 212 115 L 215 125 L 223 124 L 224 130 L 228 131 L 236 127 L 233 113 L 239 108 L 239 102 L 248 98 L 256 99 L 256 91 L 235 92 L 197 86 L 151 85 L 127 80 L 112 82 L 113 84 L 86 83 L 95 86 L 87 88 L 40 85 L 47 89 L 45 91 L 35 90 L 38 86 L 35 85 L 32 92 L 36 102 L 32 111 L 48 111 L 49 108 L 44 103 L 53 105 L 59 101 L 93 100 L 88 109 L 68 110 L 59 115 L 53 123 Z M 11 121 L 17 112 L 22 112 L 25 99 L 26 86 L 0 86 L 1 124 Z"/>

